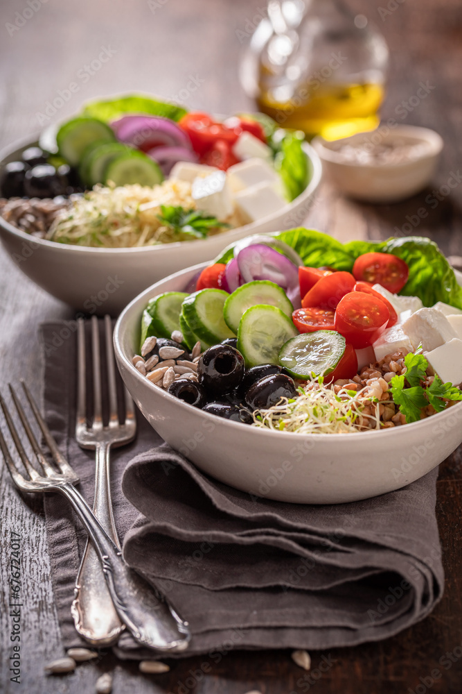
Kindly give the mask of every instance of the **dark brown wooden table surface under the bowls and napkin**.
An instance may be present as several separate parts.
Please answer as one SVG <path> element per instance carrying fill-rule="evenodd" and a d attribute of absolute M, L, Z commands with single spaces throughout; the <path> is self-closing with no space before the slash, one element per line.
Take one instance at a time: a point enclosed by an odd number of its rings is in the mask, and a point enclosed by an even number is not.
<path fill-rule="evenodd" d="M 382 114 L 415 95 L 419 83 L 432 89 L 403 122 L 429 126 L 445 139 L 435 188 L 445 184 L 462 163 L 462 3 L 460 0 L 349 0 L 355 12 L 375 22 L 391 49 L 389 92 Z M 25 8 L 33 8 L 24 12 Z M 379 9 L 382 11 L 379 12 Z M 58 91 L 77 81 L 79 90 L 51 116 L 50 122 L 78 110 L 85 99 L 125 90 L 144 90 L 189 108 L 232 112 L 250 108 L 237 78 L 238 56 L 247 42 L 243 33 L 265 10 L 264 0 L 10 0 L 1 4 L 0 146 L 37 133 L 38 112 Z M 27 19 L 24 19 L 23 14 Z M 19 26 L 21 25 L 21 26 Z M 239 33 L 238 33 L 239 31 Z M 103 49 L 111 57 L 87 80 L 82 69 Z M 80 74 L 80 76 L 79 76 Z M 194 78 L 194 91 L 186 93 Z M 186 96 L 186 99 L 185 99 Z M 413 99 L 411 103 L 416 103 Z M 429 209 L 425 195 L 393 206 L 347 201 L 324 184 L 306 224 L 341 239 L 382 239 L 396 233 L 428 208 L 416 233 L 434 239 L 449 255 L 462 255 L 462 186 Z M 0 248 L 0 383 L 20 376 L 36 393 L 40 388 L 37 325 L 71 318 L 72 310 L 37 288 Z M 10 683 L 8 591 L 1 593 L 0 691 L 28 694 L 77 694 L 94 691 L 100 672 L 114 670 L 114 694 L 451 694 L 462 690 L 462 472 L 461 450 L 441 465 L 438 523 L 444 549 L 446 586 L 443 600 L 422 623 L 395 638 L 343 650 L 312 653 L 312 679 L 287 652 L 230 652 L 211 662 L 204 677 L 194 672 L 204 658 L 174 663 L 166 675 L 139 675 L 134 664 L 111 656 L 78 667 L 71 676 L 46 678 L 46 661 L 63 653 L 53 606 L 46 535 L 39 501 L 21 500 L 1 466 L 0 585 L 8 585 L 6 548 L 10 531 L 23 537 L 24 607 L 22 682 Z M 449 654 L 449 656 L 447 655 Z M 322 655 L 332 666 L 321 675 Z M 321 676 L 320 676 L 321 675 Z M 319 679 L 316 679 L 319 677 Z M 302 678 L 302 679 L 301 679 Z"/>

